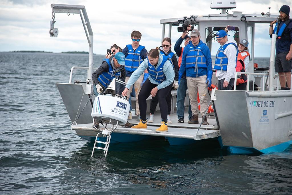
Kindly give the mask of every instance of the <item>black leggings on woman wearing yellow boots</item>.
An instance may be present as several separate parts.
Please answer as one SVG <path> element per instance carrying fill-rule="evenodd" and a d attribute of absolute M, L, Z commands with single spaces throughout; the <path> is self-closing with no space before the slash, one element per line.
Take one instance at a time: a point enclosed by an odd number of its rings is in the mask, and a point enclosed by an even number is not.
<path fill-rule="evenodd" d="M 146 110 L 147 110 L 147 103 L 146 99 L 150 96 L 150 93 L 154 87 L 157 87 L 157 84 L 152 84 L 149 79 L 145 81 L 143 84 L 140 93 L 138 95 L 139 99 L 139 109 L 140 109 L 140 118 L 145 121 L 146 120 Z M 167 103 L 166 103 L 166 96 L 171 91 L 172 84 L 168 85 L 165 88 L 159 89 L 155 97 L 158 99 L 159 109 L 161 119 L 164 122 L 167 122 Z"/>

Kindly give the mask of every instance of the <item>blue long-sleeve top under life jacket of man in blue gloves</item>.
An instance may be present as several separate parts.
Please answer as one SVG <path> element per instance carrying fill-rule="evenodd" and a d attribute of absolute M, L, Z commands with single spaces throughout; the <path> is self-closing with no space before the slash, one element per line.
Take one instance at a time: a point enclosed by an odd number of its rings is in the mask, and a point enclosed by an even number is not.
<path fill-rule="evenodd" d="M 201 40 L 199 41 L 199 44 L 196 46 L 194 46 L 191 41 L 189 42 L 189 45 L 194 47 L 194 49 L 197 49 L 198 47 L 200 47 L 203 55 L 206 57 L 207 68 L 199 68 L 198 67 L 198 77 L 203 76 L 203 75 L 207 75 L 207 71 L 212 71 L 212 58 L 211 58 L 210 49 Z M 190 49 L 187 46 L 183 50 L 182 63 L 180 65 L 180 70 L 178 72 L 179 80 L 182 77 L 183 73 L 186 73 L 187 77 L 197 77 L 197 72 L 196 72 L 195 68 L 187 68 L 186 69 L 186 57 L 187 57 L 187 54 L 189 53 L 189 51 L 190 51 Z"/>

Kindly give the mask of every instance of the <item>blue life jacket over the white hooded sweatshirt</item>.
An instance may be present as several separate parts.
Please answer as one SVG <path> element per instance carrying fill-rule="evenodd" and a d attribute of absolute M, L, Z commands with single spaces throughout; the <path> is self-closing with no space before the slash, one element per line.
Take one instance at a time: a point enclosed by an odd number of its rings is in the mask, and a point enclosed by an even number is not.
<path fill-rule="evenodd" d="M 235 58 L 235 62 L 234 62 L 235 63 L 235 67 L 236 67 L 238 48 L 237 48 L 236 44 L 228 43 L 228 44 L 220 46 L 220 48 L 217 51 L 216 58 L 215 58 L 215 66 L 214 66 L 215 70 L 225 70 L 225 71 L 227 70 L 228 58 L 223 52 L 226 49 L 226 47 L 228 45 L 230 45 L 230 44 L 234 45 L 236 50 L 237 50 L 236 58 Z"/>

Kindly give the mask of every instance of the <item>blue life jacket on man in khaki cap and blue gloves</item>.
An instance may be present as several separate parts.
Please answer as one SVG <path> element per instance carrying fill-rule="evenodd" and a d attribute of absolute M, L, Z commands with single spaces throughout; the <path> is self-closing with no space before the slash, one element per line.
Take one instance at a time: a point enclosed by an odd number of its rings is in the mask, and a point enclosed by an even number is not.
<path fill-rule="evenodd" d="M 206 57 L 201 50 L 201 46 L 187 45 L 186 47 L 188 47 L 190 51 L 185 58 L 185 68 L 195 68 L 195 72 L 197 72 L 198 76 L 198 68 L 207 68 Z"/>

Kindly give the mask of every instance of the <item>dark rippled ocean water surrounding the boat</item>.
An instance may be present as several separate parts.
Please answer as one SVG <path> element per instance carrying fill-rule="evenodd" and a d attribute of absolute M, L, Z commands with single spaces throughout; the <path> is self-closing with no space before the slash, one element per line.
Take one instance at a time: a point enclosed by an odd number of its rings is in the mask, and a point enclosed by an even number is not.
<path fill-rule="evenodd" d="M 229 155 L 212 140 L 154 140 L 91 158 L 93 144 L 70 130 L 55 87 L 73 65 L 88 66 L 88 55 L 0 53 L 0 194 L 292 194 L 292 148 Z"/>

